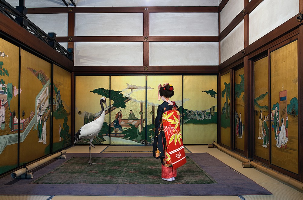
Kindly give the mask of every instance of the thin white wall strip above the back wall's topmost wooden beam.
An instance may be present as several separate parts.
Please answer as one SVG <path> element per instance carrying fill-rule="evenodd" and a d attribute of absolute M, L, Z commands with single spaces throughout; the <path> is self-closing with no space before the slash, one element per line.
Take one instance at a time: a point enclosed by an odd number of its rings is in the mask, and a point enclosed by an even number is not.
<path fill-rule="evenodd" d="M 19 0 L 6 0 L 12 6 L 19 4 Z M 219 0 L 220 1 L 220 0 Z M 66 1 L 73 7 L 70 1 Z M 74 0 L 77 7 L 98 6 L 218 6 L 217 0 Z M 61 0 L 25 0 L 26 8 L 33 7 L 65 7 Z"/>

